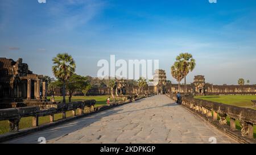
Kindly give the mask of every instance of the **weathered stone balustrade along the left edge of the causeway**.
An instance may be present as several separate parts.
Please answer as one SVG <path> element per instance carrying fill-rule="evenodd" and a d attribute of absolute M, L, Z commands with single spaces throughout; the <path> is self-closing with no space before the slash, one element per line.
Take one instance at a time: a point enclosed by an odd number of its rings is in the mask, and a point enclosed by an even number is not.
<path fill-rule="evenodd" d="M 146 97 L 150 97 L 155 94 L 148 94 Z M 130 103 L 134 100 L 138 100 L 144 98 L 141 97 L 131 97 L 127 98 L 125 102 L 115 102 L 106 106 L 98 106 L 94 107 L 96 104 L 96 100 L 84 100 L 83 102 L 72 102 L 72 103 L 59 103 L 59 104 L 48 104 L 47 108 L 40 108 L 39 106 L 33 107 L 20 107 L 20 108 L 7 108 L 0 110 L 0 120 L 9 120 L 10 123 L 10 132 L 18 132 L 19 131 L 19 122 L 21 118 L 25 118 L 28 116 L 32 116 L 32 127 L 39 126 L 39 117 L 41 116 L 49 116 L 49 122 L 54 122 L 55 114 L 62 114 L 62 118 L 66 119 L 66 112 L 72 111 L 73 116 L 84 115 L 84 110 L 88 110 L 88 113 L 92 113 L 95 111 L 102 111 L 114 106 L 118 106 L 120 104 Z"/>

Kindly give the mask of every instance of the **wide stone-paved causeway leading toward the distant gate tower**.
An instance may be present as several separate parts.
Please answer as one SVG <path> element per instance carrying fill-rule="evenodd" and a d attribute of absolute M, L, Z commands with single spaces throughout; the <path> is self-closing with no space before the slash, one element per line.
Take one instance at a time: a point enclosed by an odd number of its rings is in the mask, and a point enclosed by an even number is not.
<path fill-rule="evenodd" d="M 237 143 L 166 95 L 138 100 L 6 143 Z"/>

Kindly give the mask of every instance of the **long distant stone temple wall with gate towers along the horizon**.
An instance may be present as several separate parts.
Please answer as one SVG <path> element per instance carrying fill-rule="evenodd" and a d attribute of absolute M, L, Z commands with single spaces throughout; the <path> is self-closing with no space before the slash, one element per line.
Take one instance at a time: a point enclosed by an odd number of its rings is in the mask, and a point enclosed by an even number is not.
<path fill-rule="evenodd" d="M 165 74 L 165 72 L 164 72 Z M 166 77 L 166 76 L 164 76 Z M 174 83 L 160 82 L 161 85 L 148 86 L 146 90 L 150 93 L 177 93 L 179 85 Z M 137 92 L 137 86 L 123 87 L 123 92 L 134 94 Z M 205 82 L 204 76 L 195 76 L 194 81 L 187 85 L 187 92 L 193 95 L 256 95 L 256 85 L 213 85 Z M 184 85 L 180 85 L 180 93 L 184 93 Z M 110 89 L 93 88 L 89 95 L 109 95 Z"/>

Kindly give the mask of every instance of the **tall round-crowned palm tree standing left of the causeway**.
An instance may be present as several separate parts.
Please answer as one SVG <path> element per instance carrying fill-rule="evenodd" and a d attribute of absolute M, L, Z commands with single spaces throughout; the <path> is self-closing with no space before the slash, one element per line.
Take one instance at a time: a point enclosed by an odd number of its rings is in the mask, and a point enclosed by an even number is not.
<path fill-rule="evenodd" d="M 72 74 L 75 72 L 76 64 L 73 60 L 71 55 L 68 55 L 68 53 L 58 54 L 56 57 L 52 58 L 53 66 L 52 66 L 52 72 L 54 76 L 63 82 L 63 103 L 66 102 L 65 100 L 65 83 L 68 81 L 68 79 L 72 76 Z"/>

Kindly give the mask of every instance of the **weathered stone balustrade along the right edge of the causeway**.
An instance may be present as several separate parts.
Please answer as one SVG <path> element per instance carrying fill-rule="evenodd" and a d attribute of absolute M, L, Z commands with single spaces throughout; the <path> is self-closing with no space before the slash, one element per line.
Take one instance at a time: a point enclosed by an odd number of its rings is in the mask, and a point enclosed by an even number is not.
<path fill-rule="evenodd" d="M 174 100 L 177 99 L 175 94 L 167 94 L 167 96 Z M 229 116 L 231 131 L 237 130 L 236 120 L 239 120 L 241 136 L 255 141 L 253 127 L 256 124 L 256 110 L 195 99 L 191 96 L 183 96 L 181 103 L 183 106 L 213 119 L 213 122 L 218 122 L 220 125 L 227 125 L 226 118 Z"/>

